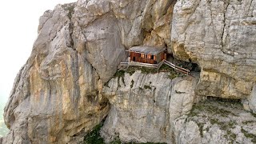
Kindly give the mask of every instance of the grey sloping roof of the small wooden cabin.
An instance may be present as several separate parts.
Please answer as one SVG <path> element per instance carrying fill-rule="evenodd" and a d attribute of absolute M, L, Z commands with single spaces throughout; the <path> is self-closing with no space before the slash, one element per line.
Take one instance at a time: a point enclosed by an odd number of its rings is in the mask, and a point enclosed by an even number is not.
<path fill-rule="evenodd" d="M 145 54 L 159 54 L 164 50 L 166 50 L 166 47 L 158 48 L 153 46 L 133 46 L 128 51 Z"/>

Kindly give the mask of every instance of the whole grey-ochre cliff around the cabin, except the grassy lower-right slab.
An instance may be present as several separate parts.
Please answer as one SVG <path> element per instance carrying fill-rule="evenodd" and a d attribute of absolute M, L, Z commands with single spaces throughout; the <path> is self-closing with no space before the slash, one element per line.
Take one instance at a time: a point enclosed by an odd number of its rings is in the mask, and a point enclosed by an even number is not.
<path fill-rule="evenodd" d="M 243 99 L 255 112 L 255 6 L 255 0 L 78 0 L 46 11 L 5 108 L 10 134 L 0 141 L 69 142 L 110 110 L 106 140 L 118 133 L 124 141 L 171 142 L 171 122 L 190 110 L 194 95 Z M 110 80 L 125 50 L 137 45 L 167 46 L 175 58 L 198 63 L 198 84 L 164 73 Z"/>

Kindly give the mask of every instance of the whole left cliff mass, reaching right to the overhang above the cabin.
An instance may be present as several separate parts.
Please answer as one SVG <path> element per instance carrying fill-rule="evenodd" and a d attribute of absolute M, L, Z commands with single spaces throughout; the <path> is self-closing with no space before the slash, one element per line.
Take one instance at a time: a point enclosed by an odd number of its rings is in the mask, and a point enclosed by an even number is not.
<path fill-rule="evenodd" d="M 65 143 L 102 121 L 110 108 L 102 86 L 130 46 L 170 41 L 173 6 L 168 0 L 78 0 L 47 10 L 15 79 L 5 108 L 10 134 L 1 141 Z"/>

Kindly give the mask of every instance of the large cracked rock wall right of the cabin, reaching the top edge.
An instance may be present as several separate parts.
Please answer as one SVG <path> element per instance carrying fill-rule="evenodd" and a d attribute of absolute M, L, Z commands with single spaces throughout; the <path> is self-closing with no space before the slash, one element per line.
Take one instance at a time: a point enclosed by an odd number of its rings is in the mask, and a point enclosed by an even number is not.
<path fill-rule="evenodd" d="M 256 1 L 178 0 L 171 45 L 175 57 L 201 68 L 197 93 L 246 98 L 256 82 Z"/>

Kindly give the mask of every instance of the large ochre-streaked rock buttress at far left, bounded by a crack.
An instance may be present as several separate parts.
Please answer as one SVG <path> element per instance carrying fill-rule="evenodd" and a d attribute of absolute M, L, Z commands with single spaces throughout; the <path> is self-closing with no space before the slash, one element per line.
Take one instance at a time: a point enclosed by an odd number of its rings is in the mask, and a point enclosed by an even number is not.
<path fill-rule="evenodd" d="M 101 78 L 74 50 L 68 14 L 59 5 L 40 18 L 38 39 L 5 108 L 10 134 L 3 143 L 65 143 L 108 113 L 106 98 L 98 94 Z"/>

